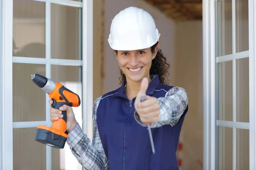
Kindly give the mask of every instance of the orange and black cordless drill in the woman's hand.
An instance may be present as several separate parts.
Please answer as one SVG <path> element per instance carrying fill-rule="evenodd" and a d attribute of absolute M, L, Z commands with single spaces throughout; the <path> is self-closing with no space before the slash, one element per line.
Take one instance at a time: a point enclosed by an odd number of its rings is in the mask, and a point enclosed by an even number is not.
<path fill-rule="evenodd" d="M 32 81 L 38 85 L 44 92 L 49 94 L 52 99 L 52 108 L 59 109 L 63 105 L 70 107 L 79 107 L 81 104 L 78 94 L 70 91 L 58 82 L 48 79 L 40 74 L 31 75 Z M 62 149 L 67 140 L 65 133 L 67 125 L 67 112 L 62 111 L 63 118 L 59 118 L 52 122 L 52 127 L 38 126 L 36 130 L 35 140 L 48 146 Z"/>

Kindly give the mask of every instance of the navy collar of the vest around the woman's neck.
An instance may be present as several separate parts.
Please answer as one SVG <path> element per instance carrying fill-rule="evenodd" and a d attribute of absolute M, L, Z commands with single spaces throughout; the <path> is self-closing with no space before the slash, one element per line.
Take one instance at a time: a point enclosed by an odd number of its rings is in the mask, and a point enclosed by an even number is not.
<path fill-rule="evenodd" d="M 153 95 L 155 89 L 157 88 L 157 86 L 160 83 L 159 77 L 157 74 L 150 75 L 150 78 L 151 78 L 151 82 L 149 82 L 148 89 L 146 91 L 146 95 L 148 95 L 148 96 Z M 122 83 L 122 86 L 117 89 L 116 93 L 113 96 L 120 96 L 120 97 L 127 98 L 127 96 L 125 94 L 125 88 L 126 88 L 126 80 Z"/>

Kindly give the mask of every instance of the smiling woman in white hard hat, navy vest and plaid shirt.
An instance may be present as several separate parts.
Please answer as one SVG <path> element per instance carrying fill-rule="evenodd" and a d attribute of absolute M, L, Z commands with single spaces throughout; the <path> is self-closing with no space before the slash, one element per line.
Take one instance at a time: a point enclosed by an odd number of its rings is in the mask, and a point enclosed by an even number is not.
<path fill-rule="evenodd" d="M 183 88 L 164 84 L 169 65 L 158 49 L 159 37 L 154 19 L 143 9 L 129 7 L 114 17 L 108 42 L 119 62 L 122 86 L 95 100 L 92 143 L 71 107 L 50 109 L 51 121 L 67 111 L 67 143 L 84 168 L 178 169 L 176 150 L 188 99 Z M 146 122 L 151 123 L 155 154 Z"/>

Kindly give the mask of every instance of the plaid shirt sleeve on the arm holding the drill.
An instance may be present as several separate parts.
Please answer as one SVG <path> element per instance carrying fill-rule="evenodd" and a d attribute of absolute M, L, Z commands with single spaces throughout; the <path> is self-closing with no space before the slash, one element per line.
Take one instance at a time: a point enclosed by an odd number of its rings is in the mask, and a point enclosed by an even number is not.
<path fill-rule="evenodd" d="M 93 104 L 93 142 L 82 131 L 79 124 L 68 133 L 67 144 L 71 152 L 86 170 L 108 169 L 108 158 L 105 155 L 96 122 L 96 111 L 101 97 Z"/>

